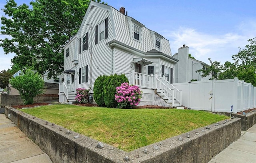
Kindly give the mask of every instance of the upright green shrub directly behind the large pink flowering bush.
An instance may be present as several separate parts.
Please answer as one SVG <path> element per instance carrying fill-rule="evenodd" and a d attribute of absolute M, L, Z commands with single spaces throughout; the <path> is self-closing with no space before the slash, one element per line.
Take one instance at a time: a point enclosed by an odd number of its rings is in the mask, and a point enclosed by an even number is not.
<path fill-rule="evenodd" d="M 117 108 L 117 101 L 115 100 L 116 87 L 120 86 L 123 82 L 128 82 L 124 74 L 115 74 L 106 77 L 103 83 L 104 103 L 106 107 Z"/>

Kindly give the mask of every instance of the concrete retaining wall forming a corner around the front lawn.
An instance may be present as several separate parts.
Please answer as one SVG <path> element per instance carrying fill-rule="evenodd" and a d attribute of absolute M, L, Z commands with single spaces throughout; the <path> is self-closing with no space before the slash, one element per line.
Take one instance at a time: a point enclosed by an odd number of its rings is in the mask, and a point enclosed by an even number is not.
<path fill-rule="evenodd" d="M 66 128 L 19 110 L 6 107 L 7 112 L 54 163 L 127 163 L 125 157 L 129 163 L 207 163 L 241 134 L 241 119 L 234 118 L 127 153 L 105 143 L 104 148 L 96 148 L 97 140 L 76 132 L 67 134 Z"/>

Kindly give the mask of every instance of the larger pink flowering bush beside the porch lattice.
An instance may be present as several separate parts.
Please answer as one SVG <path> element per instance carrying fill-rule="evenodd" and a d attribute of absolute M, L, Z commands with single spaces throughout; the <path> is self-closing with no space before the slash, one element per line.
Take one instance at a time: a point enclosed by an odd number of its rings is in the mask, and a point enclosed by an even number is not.
<path fill-rule="evenodd" d="M 116 87 L 115 100 L 118 108 L 134 108 L 140 103 L 142 91 L 136 85 L 129 85 L 127 82 Z"/>

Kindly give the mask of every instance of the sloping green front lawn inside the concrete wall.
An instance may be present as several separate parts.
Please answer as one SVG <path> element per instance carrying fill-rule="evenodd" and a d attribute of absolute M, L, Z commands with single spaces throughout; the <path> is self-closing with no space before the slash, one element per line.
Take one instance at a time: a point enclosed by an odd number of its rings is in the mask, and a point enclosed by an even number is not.
<path fill-rule="evenodd" d="M 127 152 L 228 118 L 197 110 L 75 105 L 41 106 L 22 111 Z"/>

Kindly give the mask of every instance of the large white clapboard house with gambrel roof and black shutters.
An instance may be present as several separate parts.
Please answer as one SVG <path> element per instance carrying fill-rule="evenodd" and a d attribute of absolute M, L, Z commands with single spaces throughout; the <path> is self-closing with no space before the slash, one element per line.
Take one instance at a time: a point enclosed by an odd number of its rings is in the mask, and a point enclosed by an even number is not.
<path fill-rule="evenodd" d="M 162 96 L 174 106 L 174 100 L 180 98 L 171 84 L 176 63 L 178 59 L 172 57 L 170 43 L 162 35 L 125 15 L 123 7 L 118 11 L 91 1 L 78 33 L 64 46 L 59 99 L 74 102 L 76 88 L 93 93 L 98 76 L 125 73 L 130 84 L 144 88 L 142 98 L 146 100 L 141 105 L 160 105 L 156 99 Z M 174 96 L 171 89 L 175 89 Z"/>

